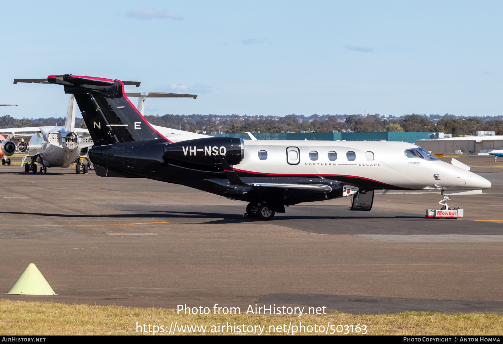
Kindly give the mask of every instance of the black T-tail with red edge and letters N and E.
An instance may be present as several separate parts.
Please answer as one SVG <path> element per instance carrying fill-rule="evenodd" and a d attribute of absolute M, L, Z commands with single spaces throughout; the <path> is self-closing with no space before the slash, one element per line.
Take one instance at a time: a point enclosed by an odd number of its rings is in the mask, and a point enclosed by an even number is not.
<path fill-rule="evenodd" d="M 95 145 L 158 139 L 167 141 L 126 97 L 124 84 L 92 76 L 49 75 L 47 81 L 73 94 Z"/>

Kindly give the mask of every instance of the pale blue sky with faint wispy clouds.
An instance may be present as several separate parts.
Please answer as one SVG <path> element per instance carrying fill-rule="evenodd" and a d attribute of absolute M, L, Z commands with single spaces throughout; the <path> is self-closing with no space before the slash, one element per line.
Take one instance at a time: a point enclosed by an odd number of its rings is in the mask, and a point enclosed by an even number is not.
<path fill-rule="evenodd" d="M 72 73 L 141 81 L 145 114 L 501 115 L 503 2 L 5 2 L 0 116 L 63 117 Z M 133 101 L 134 104 L 136 103 Z"/>

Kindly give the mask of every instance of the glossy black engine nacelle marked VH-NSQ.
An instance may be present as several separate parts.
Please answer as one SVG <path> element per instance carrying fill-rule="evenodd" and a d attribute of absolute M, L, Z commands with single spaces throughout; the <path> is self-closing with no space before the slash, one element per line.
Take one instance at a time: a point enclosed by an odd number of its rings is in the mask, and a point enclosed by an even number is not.
<path fill-rule="evenodd" d="M 230 165 L 244 158 L 244 141 L 236 137 L 205 137 L 164 145 L 164 159 L 200 165 L 219 164 L 224 158 Z"/>

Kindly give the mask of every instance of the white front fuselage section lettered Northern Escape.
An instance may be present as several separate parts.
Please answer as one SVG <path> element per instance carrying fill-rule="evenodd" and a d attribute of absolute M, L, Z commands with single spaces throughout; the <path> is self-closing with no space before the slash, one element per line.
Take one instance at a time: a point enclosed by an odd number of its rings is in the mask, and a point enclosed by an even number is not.
<path fill-rule="evenodd" d="M 245 140 L 244 158 L 234 165 L 234 170 L 272 176 L 357 178 L 375 181 L 390 189 L 490 188 L 491 183 L 485 178 L 450 163 L 435 158 L 407 157 L 405 150 L 413 148 L 420 147 L 388 141 Z M 267 159 L 260 159 L 259 151 L 266 151 Z M 298 151 L 297 160 L 291 151 Z M 337 159 L 333 159 L 333 152 L 337 153 Z"/>

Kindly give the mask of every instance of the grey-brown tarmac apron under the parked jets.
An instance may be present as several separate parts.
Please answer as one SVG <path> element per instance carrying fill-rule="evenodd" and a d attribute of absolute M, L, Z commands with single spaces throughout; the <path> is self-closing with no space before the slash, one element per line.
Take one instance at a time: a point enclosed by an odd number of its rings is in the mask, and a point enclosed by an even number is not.
<path fill-rule="evenodd" d="M 348 211 L 349 197 L 301 204 L 264 222 L 185 186 L 0 166 L 0 292 L 34 263 L 58 295 L 2 298 L 500 313 L 503 162 L 458 159 L 492 188 L 451 196 L 465 210 L 455 220 L 424 217 L 439 192 L 377 191 L 370 212 Z"/>

